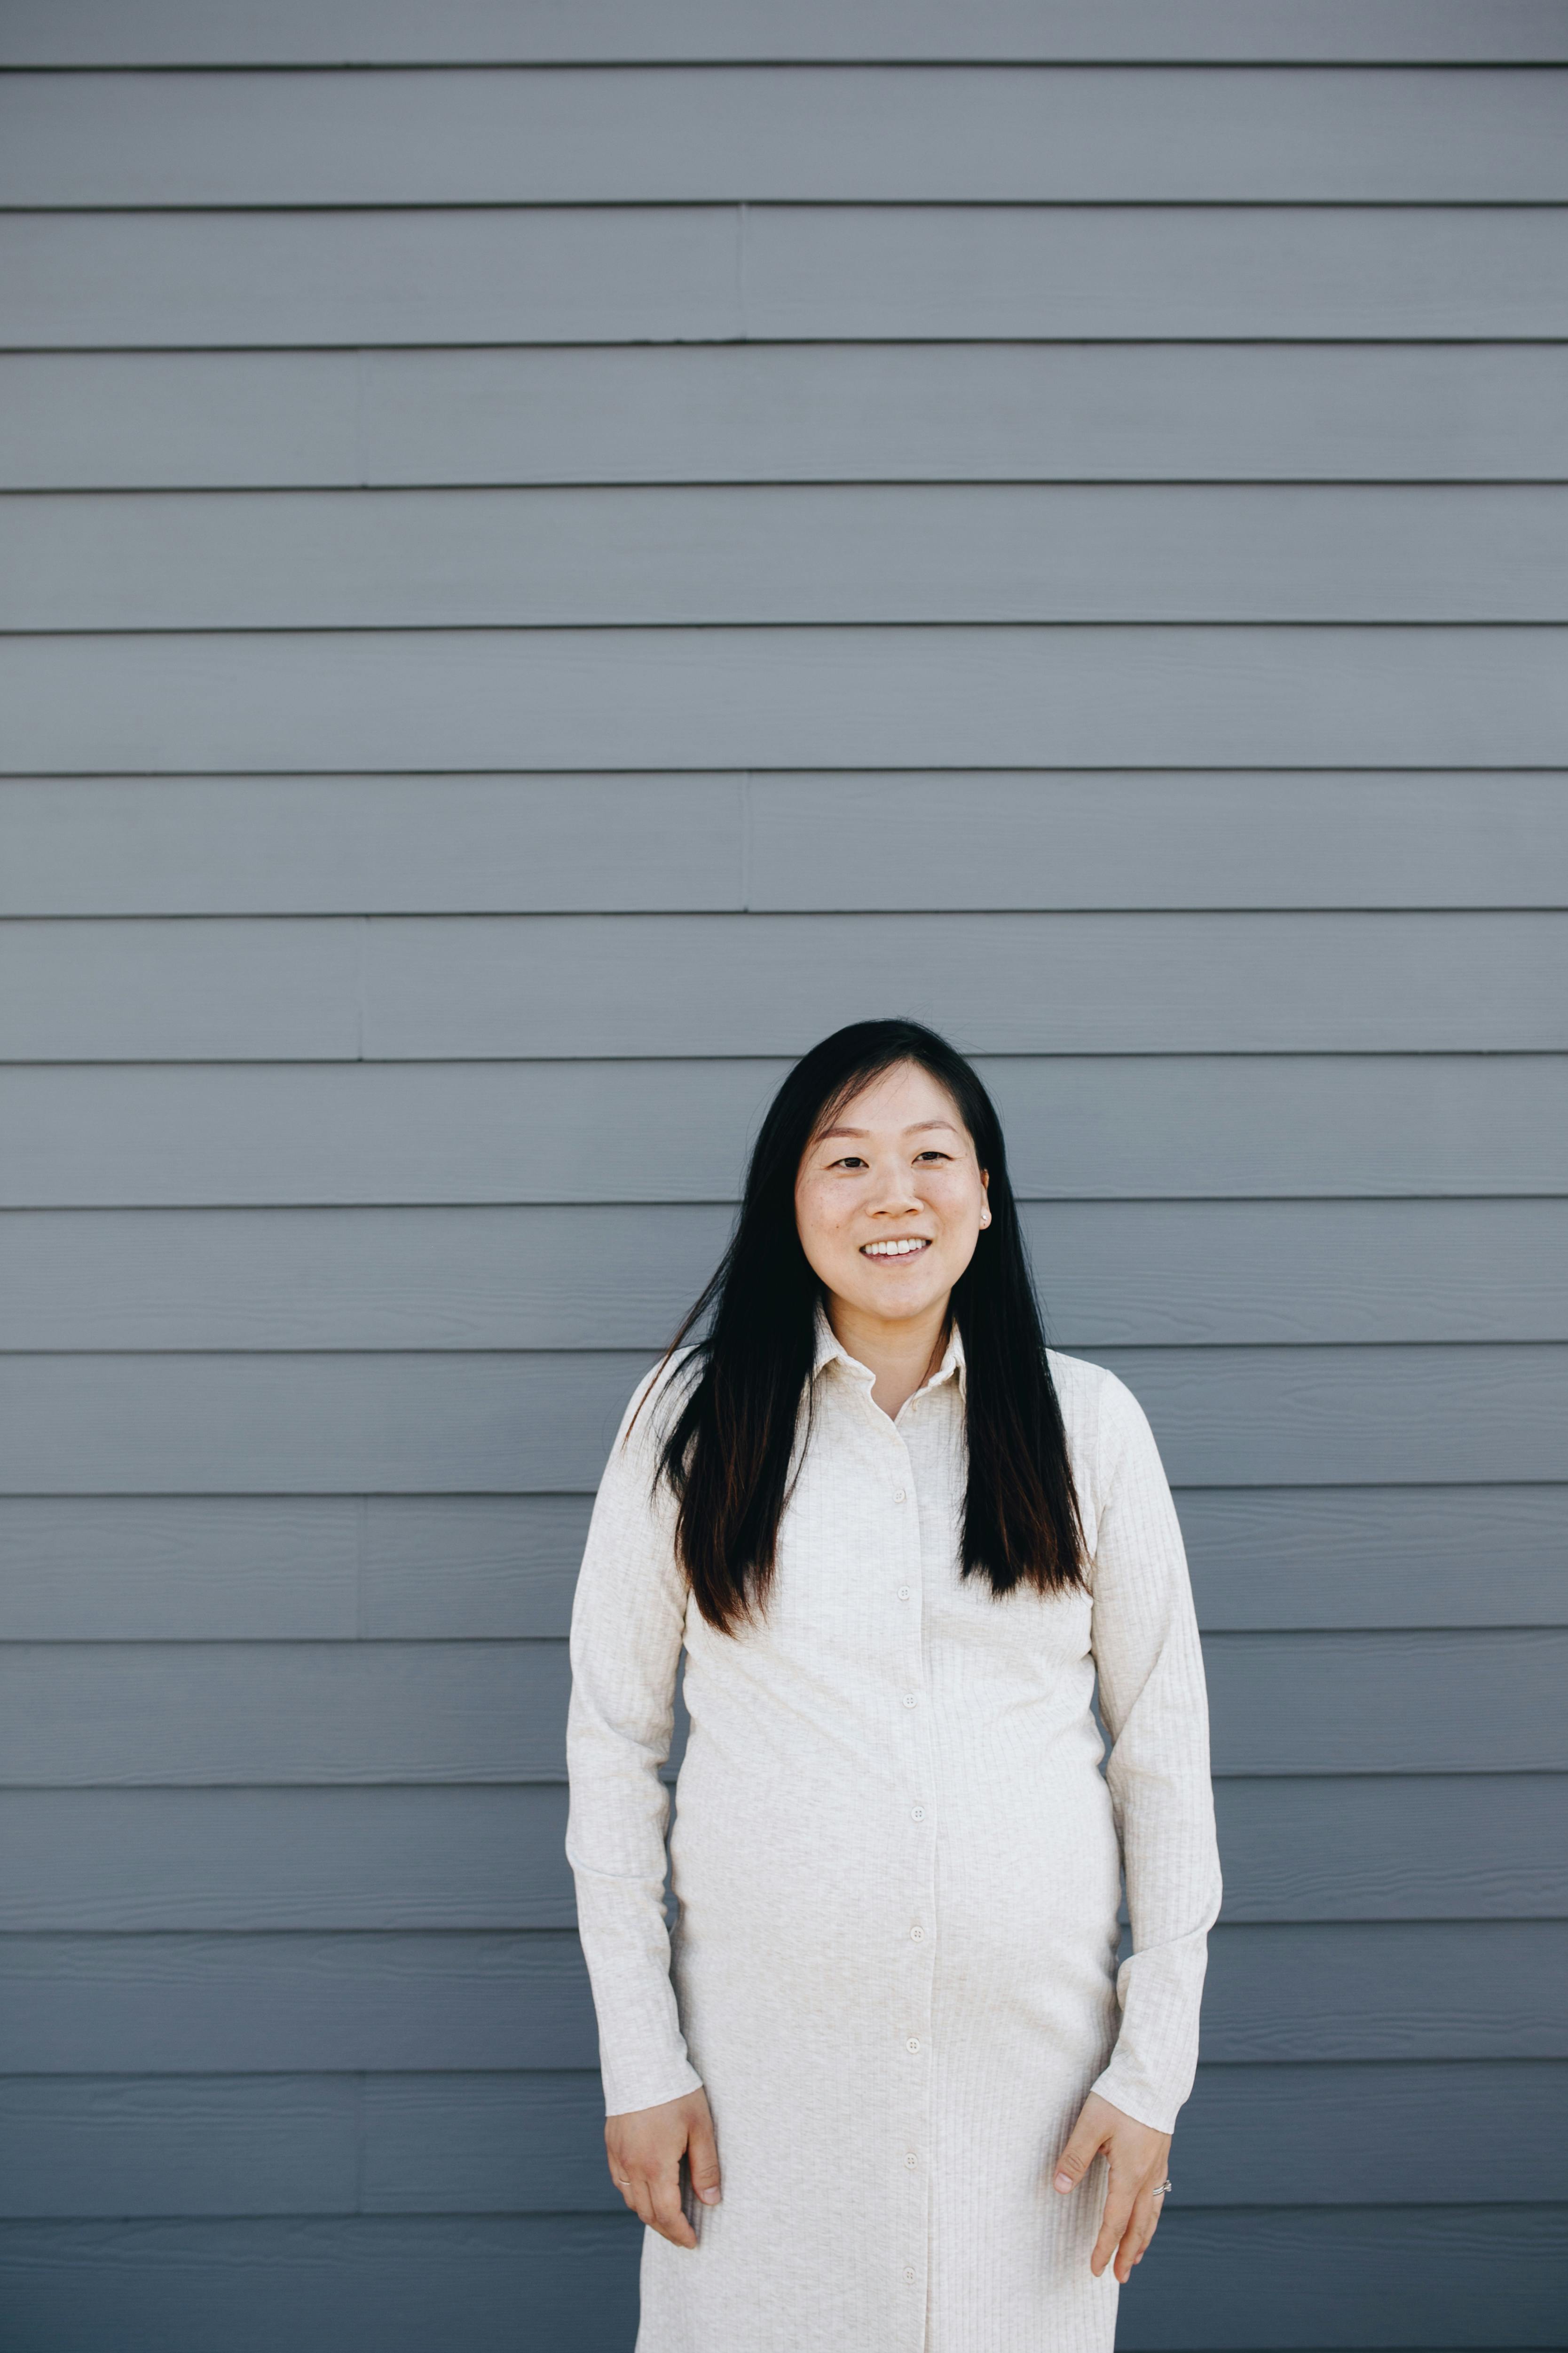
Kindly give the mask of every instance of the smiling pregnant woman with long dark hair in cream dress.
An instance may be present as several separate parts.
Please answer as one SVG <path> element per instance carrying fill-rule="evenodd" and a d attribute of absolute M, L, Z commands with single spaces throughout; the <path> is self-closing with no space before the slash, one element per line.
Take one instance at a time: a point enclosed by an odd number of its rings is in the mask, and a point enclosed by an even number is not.
<path fill-rule="evenodd" d="M 571 1621 L 637 2353 L 1110 2353 L 1220 1906 L 1154 1438 L 1046 1351 L 997 1113 L 912 1021 L 785 1078 L 682 1337 L 708 1311 L 625 1412 Z"/>

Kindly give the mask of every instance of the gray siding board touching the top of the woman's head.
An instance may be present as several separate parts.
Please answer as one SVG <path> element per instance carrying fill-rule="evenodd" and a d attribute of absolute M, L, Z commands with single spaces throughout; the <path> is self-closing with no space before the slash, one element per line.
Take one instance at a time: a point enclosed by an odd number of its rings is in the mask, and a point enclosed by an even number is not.
<path fill-rule="evenodd" d="M 0 1054 L 780 1056 L 891 1012 L 987 1054 L 1552 1052 L 1566 979 L 1556 911 L 12 922 Z"/>

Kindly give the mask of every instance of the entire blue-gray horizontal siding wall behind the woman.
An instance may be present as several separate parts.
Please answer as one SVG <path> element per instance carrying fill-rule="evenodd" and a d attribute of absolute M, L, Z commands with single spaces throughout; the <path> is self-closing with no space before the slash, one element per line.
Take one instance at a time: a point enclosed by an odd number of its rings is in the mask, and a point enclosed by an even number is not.
<path fill-rule="evenodd" d="M 1563 2344 L 1568 14 L 0 61 L 7 2353 L 628 2353 L 576 1551 L 889 1009 L 1206 1628 L 1121 2346 Z"/>

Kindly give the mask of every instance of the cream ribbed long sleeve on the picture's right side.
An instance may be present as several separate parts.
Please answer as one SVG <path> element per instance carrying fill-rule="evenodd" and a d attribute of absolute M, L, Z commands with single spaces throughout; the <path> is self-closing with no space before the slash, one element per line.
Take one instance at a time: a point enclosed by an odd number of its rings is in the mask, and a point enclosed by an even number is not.
<path fill-rule="evenodd" d="M 1093 2089 L 1171 2132 L 1197 2071 L 1220 1852 L 1187 1555 L 1154 1433 L 1114 1374 L 1100 1395 L 1098 1497 L 1093 1654 L 1133 1953 L 1117 1972 L 1117 2047 Z"/>

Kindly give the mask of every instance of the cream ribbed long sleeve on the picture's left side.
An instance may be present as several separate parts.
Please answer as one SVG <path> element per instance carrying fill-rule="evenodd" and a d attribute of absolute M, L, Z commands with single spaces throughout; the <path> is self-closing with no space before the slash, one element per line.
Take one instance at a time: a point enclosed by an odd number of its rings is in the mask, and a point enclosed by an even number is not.
<path fill-rule="evenodd" d="M 654 1494 L 656 1398 L 625 1442 L 646 1388 L 639 1384 L 621 1419 L 571 1607 L 567 1861 L 609 2115 L 701 2082 L 679 2031 L 663 1906 L 670 1793 L 658 1767 L 675 1729 L 686 1588 L 672 1499 L 663 1487 Z"/>

